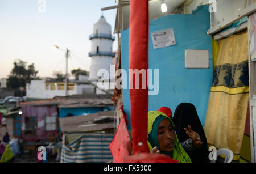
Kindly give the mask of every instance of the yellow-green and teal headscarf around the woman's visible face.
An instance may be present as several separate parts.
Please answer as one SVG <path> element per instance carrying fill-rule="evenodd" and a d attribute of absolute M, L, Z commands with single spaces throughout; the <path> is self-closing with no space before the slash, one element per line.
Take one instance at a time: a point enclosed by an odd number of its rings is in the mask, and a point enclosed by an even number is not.
<path fill-rule="evenodd" d="M 160 111 L 150 111 L 148 112 L 148 128 L 147 128 L 147 143 L 150 151 L 152 147 L 157 146 L 158 150 L 160 150 L 159 142 L 158 142 L 158 125 L 163 119 L 170 120 L 174 130 L 175 125 L 172 122 L 171 118 L 167 117 L 166 114 Z M 180 163 L 191 163 L 191 159 L 189 158 L 187 152 L 185 152 L 184 148 L 180 145 L 179 139 L 177 138 L 177 134 L 175 131 L 174 138 L 174 150 L 169 152 L 163 152 L 160 150 L 161 154 L 171 155 L 173 159 L 179 160 Z"/>

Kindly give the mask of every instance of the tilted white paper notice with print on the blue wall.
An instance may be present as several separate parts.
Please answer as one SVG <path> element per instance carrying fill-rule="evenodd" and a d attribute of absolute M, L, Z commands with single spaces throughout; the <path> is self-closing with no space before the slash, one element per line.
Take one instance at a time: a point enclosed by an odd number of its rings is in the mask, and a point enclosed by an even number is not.
<path fill-rule="evenodd" d="M 154 49 L 175 45 L 174 28 L 151 32 Z"/>

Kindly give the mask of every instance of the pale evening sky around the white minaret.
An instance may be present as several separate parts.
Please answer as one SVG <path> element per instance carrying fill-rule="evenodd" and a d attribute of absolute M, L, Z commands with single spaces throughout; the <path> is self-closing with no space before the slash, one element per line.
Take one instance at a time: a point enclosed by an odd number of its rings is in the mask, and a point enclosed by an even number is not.
<path fill-rule="evenodd" d="M 44 3 L 45 2 L 45 3 Z M 65 49 L 72 69 L 89 70 L 89 35 L 103 14 L 114 32 L 117 0 L 0 0 L 0 78 L 8 78 L 17 59 L 34 63 L 38 77 L 65 74 Z M 113 51 L 117 50 L 117 35 Z M 52 49 L 57 45 L 63 50 Z"/>

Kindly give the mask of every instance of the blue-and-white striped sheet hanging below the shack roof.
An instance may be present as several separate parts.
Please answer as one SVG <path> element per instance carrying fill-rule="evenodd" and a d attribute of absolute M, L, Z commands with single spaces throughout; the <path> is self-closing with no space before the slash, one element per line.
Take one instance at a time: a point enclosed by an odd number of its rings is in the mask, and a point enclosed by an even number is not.
<path fill-rule="evenodd" d="M 113 159 L 109 150 L 113 133 L 69 133 L 63 137 L 61 163 L 105 163 Z"/>

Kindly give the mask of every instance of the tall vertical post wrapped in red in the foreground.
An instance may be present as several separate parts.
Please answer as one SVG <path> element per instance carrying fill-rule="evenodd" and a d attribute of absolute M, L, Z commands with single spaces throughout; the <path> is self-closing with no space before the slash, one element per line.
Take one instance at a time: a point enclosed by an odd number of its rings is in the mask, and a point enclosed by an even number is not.
<path fill-rule="evenodd" d="M 129 69 L 148 69 L 148 0 L 130 1 L 130 59 Z M 129 72 L 129 84 L 131 84 Z M 135 76 L 134 76 L 135 77 Z M 131 132 L 133 140 L 133 154 L 149 152 L 147 145 L 147 112 L 148 87 L 142 89 L 143 75 L 140 75 L 139 89 L 130 88 L 131 100 Z M 146 76 L 147 82 L 147 76 Z"/>

